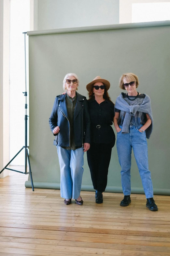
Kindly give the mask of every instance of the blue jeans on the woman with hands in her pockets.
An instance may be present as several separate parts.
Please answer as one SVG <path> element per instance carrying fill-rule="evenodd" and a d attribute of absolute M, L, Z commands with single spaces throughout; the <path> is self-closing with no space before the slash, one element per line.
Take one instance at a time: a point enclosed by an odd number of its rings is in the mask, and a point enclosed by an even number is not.
<path fill-rule="evenodd" d="M 139 169 L 146 198 L 153 197 L 153 186 L 148 166 L 148 145 L 145 132 L 138 129 L 142 127 L 130 126 L 129 133 L 117 133 L 117 151 L 121 166 L 121 184 L 123 194 L 131 194 L 131 154 L 134 151 L 135 160 Z M 122 126 L 120 126 L 122 128 Z"/>

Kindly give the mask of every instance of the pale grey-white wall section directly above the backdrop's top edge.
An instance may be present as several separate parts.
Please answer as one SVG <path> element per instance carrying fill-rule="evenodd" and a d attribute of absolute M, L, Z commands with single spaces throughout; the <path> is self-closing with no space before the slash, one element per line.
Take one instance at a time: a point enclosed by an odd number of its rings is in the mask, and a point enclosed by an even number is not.
<path fill-rule="evenodd" d="M 119 23 L 119 0 L 34 0 L 34 30 Z"/>

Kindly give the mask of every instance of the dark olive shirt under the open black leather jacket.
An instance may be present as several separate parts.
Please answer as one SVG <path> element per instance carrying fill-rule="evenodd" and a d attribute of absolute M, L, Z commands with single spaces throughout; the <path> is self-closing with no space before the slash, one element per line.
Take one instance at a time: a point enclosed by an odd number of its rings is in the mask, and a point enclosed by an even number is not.
<path fill-rule="evenodd" d="M 72 98 L 66 94 L 65 100 L 67 105 L 68 120 L 70 123 L 70 146 L 63 148 L 76 150 L 77 148 L 80 148 L 76 147 L 74 140 L 74 111 L 76 108 L 77 95 Z"/>

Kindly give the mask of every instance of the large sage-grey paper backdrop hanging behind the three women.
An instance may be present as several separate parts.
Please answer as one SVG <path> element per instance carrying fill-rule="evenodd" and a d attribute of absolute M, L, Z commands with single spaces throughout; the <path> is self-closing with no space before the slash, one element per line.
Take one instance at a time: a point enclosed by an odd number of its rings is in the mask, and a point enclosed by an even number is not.
<path fill-rule="evenodd" d="M 55 96 L 63 93 L 65 74 L 72 72 L 78 75 L 78 93 L 85 96 L 86 84 L 94 77 L 109 80 L 108 92 L 115 102 L 122 92 L 118 86 L 120 76 L 132 72 L 139 77 L 137 91 L 151 98 L 154 129 L 148 140 L 148 150 L 154 193 L 170 195 L 170 26 L 115 27 L 29 35 L 29 149 L 35 187 L 60 188 L 57 149 L 53 146 L 54 136 L 48 120 Z M 133 155 L 131 176 L 132 192 L 144 193 Z M 25 186 L 31 187 L 30 179 Z M 86 153 L 82 190 L 93 191 Z M 122 192 L 116 145 L 112 149 L 106 191 Z"/>

